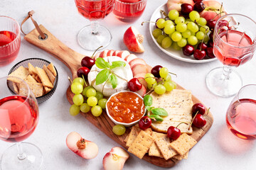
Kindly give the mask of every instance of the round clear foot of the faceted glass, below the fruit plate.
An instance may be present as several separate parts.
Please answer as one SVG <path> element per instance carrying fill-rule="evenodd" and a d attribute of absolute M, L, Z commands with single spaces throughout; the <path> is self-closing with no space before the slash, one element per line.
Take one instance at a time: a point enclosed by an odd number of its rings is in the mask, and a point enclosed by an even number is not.
<path fill-rule="evenodd" d="M 238 72 L 230 72 L 229 79 L 225 79 L 223 67 L 210 70 L 206 77 L 206 85 L 210 92 L 221 97 L 231 97 L 242 87 L 242 78 Z"/>

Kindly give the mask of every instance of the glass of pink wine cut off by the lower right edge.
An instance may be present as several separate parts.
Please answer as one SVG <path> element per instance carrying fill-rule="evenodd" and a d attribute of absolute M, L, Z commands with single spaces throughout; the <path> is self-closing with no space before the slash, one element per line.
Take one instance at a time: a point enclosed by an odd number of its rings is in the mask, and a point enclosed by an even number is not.
<path fill-rule="evenodd" d="M 243 86 L 226 114 L 228 128 L 243 140 L 256 140 L 256 84 Z"/>

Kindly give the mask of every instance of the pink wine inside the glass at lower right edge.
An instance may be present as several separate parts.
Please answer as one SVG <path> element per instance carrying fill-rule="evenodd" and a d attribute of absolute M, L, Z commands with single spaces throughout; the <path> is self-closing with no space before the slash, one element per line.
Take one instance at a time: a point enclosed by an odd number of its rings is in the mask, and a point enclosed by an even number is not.
<path fill-rule="evenodd" d="M 256 140 L 256 101 L 243 98 L 235 101 L 227 112 L 227 125 L 233 134 L 244 140 Z"/>

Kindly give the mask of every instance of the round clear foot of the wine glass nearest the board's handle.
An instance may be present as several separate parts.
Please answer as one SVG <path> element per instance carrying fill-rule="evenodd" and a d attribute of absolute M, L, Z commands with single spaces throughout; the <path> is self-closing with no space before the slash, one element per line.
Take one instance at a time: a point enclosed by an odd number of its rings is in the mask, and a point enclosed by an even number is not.
<path fill-rule="evenodd" d="M 100 25 L 97 26 L 97 33 L 92 33 L 91 26 L 85 26 L 78 33 L 78 43 L 85 50 L 95 51 L 100 46 L 105 48 L 111 40 L 110 30 Z"/>

